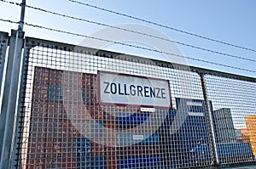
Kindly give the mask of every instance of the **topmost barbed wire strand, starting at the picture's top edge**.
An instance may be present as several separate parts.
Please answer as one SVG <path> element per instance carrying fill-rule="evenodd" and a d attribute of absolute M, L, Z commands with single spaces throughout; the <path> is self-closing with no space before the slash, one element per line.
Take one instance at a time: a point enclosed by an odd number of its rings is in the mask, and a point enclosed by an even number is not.
<path fill-rule="evenodd" d="M 116 12 L 116 11 L 110 10 L 108 8 L 101 8 L 101 7 L 97 7 L 95 5 L 91 5 L 89 3 L 82 3 L 82 2 L 79 2 L 79 1 L 75 1 L 75 0 L 68 0 L 68 1 L 71 2 L 71 3 L 78 3 L 80 5 L 84 5 L 84 6 L 87 6 L 87 7 L 90 7 L 90 8 L 96 8 L 96 9 L 99 9 L 99 10 L 102 10 L 102 11 L 105 11 L 105 12 L 108 12 L 108 13 L 118 14 L 120 16 L 124 16 L 126 18 L 130 18 L 130 19 L 133 19 L 133 20 L 142 21 L 144 23 L 148 23 L 148 24 L 151 24 L 151 25 L 157 25 L 157 26 L 160 26 L 160 27 L 172 30 L 172 31 L 178 31 L 178 32 L 187 34 L 189 36 L 199 37 L 199 38 L 202 38 L 202 39 L 205 39 L 205 40 L 208 40 L 208 41 L 212 41 L 212 42 L 218 42 L 218 43 L 221 43 L 221 44 L 233 47 L 233 48 L 241 48 L 241 49 L 248 50 L 248 51 L 251 51 L 251 52 L 256 52 L 256 50 L 252 49 L 252 48 L 246 48 L 246 47 L 242 47 L 242 46 L 239 46 L 239 45 L 236 45 L 236 44 L 232 44 L 230 42 L 224 42 L 224 41 L 220 41 L 220 40 L 217 40 L 217 39 L 213 39 L 211 37 L 205 37 L 205 36 L 201 36 L 199 34 L 191 33 L 189 31 L 183 31 L 183 30 L 171 27 L 169 25 L 162 25 L 162 24 L 156 23 L 154 21 L 144 20 L 144 19 L 141 19 L 141 18 L 137 18 L 136 16 L 132 16 L 132 15 L 129 15 L 129 14 L 123 14 L 123 13 L 120 13 L 120 12 Z"/>

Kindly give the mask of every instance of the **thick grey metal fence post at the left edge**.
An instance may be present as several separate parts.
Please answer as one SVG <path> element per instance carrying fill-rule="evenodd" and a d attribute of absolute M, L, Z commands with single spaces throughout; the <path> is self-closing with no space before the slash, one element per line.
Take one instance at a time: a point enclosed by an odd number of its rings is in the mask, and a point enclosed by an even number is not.
<path fill-rule="evenodd" d="M 24 31 L 12 30 L 0 116 L 0 168 L 9 168 L 13 146 Z"/>

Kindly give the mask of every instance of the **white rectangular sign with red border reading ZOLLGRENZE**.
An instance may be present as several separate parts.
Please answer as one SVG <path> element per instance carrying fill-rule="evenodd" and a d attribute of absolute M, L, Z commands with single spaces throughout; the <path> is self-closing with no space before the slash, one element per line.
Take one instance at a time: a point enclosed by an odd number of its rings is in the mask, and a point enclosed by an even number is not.
<path fill-rule="evenodd" d="M 98 81 L 101 104 L 171 107 L 170 86 L 166 80 L 99 71 Z"/>

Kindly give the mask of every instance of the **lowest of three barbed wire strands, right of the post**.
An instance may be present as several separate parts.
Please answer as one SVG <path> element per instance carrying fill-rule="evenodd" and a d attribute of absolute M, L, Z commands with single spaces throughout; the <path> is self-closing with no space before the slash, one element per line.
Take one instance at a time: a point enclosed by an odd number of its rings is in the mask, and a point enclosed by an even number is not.
<path fill-rule="evenodd" d="M 236 66 L 219 64 L 219 63 L 204 60 L 204 59 L 195 59 L 195 58 L 192 58 L 192 57 L 189 57 L 189 56 L 183 56 L 183 55 L 179 55 L 179 54 L 171 54 L 171 53 L 168 53 L 168 52 L 165 52 L 165 51 L 160 51 L 160 50 L 156 50 L 156 49 L 152 49 L 152 48 L 140 47 L 140 46 L 137 46 L 137 45 L 127 44 L 127 43 L 124 43 L 124 42 L 115 42 L 115 41 L 111 41 L 111 40 L 103 39 L 103 38 L 99 38 L 99 37 L 90 37 L 90 36 L 79 34 L 79 33 L 74 33 L 74 32 L 70 32 L 70 31 L 63 31 L 63 30 L 58 30 L 58 29 L 55 29 L 55 28 L 45 27 L 43 25 L 33 25 L 33 24 L 29 24 L 27 22 L 25 22 L 24 24 L 32 26 L 32 27 L 37 27 L 37 28 L 40 28 L 40 29 L 48 30 L 48 31 L 61 32 L 61 33 L 65 33 L 65 34 L 68 34 L 68 35 L 90 38 L 90 39 L 94 39 L 94 40 L 97 40 L 97 41 L 111 42 L 113 44 L 119 44 L 119 45 L 122 45 L 122 46 L 131 47 L 131 48 L 139 48 L 139 49 L 147 50 L 149 52 L 155 52 L 155 53 L 159 53 L 159 54 L 169 54 L 169 55 L 172 55 L 172 56 L 176 56 L 176 57 L 180 57 L 180 58 L 184 58 L 184 59 L 191 59 L 191 60 L 204 62 L 204 63 L 211 64 L 211 65 L 219 65 L 219 66 L 228 67 L 228 68 L 231 68 L 231 69 L 244 70 L 244 71 L 256 73 L 256 71 L 254 71 L 254 70 L 247 70 L 247 69 L 243 69 L 243 68 L 236 67 Z"/>

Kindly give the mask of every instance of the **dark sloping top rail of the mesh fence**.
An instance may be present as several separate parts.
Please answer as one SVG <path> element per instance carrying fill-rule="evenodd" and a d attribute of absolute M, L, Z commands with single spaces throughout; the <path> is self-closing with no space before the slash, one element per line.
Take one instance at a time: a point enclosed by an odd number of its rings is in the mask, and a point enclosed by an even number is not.
<path fill-rule="evenodd" d="M 1 33 L 3 32 L 0 31 L 0 35 Z M 82 52 L 82 53 L 86 51 L 86 54 L 92 54 L 92 55 L 111 58 L 111 59 L 127 59 L 128 61 L 134 61 L 134 62 L 139 61 L 144 64 L 149 64 L 148 60 L 150 60 L 154 62 L 155 65 L 160 67 L 172 68 L 177 70 L 186 70 L 186 71 L 195 72 L 195 73 L 204 74 L 204 75 L 222 76 L 225 78 L 236 79 L 236 80 L 241 80 L 245 82 L 256 82 L 255 77 L 241 76 L 241 75 L 236 75 L 232 73 L 227 73 L 224 71 L 209 70 L 209 69 L 195 67 L 191 65 L 180 65 L 180 64 L 166 62 L 158 59 L 146 59 L 136 55 L 121 54 L 121 53 L 111 52 L 108 50 L 87 48 L 83 46 L 78 46 L 78 45 L 73 45 L 73 44 L 68 44 L 63 42 L 54 42 L 54 41 L 49 41 L 49 40 L 44 40 L 44 39 L 39 39 L 34 37 L 25 37 L 25 39 L 26 39 L 26 42 L 30 43 L 31 48 L 42 46 L 43 44 L 45 45 L 44 47 L 46 48 L 56 48 L 56 49 L 61 49 L 69 52 Z"/>

